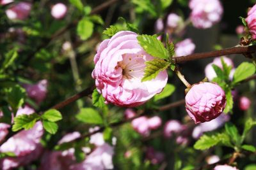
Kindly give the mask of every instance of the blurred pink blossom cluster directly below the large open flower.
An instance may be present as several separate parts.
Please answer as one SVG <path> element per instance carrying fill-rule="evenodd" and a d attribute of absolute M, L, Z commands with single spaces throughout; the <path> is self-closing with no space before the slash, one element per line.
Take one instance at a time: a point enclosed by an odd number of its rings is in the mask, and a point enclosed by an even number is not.
<path fill-rule="evenodd" d="M 136 113 L 131 109 L 127 109 L 124 115 L 125 118 L 132 118 L 135 117 Z M 161 126 L 162 120 L 157 116 L 151 118 L 143 116 L 135 118 L 132 120 L 131 124 L 136 132 L 140 133 L 142 136 L 148 136 L 150 131 L 158 129 Z"/>

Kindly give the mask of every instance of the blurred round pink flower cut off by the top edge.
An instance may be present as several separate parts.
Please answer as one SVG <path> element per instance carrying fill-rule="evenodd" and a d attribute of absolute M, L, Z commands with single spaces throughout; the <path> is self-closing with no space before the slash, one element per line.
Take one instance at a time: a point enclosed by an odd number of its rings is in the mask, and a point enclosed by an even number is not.
<path fill-rule="evenodd" d="M 199 29 L 207 29 L 221 20 L 223 8 L 219 0 L 190 0 L 190 19 Z"/>

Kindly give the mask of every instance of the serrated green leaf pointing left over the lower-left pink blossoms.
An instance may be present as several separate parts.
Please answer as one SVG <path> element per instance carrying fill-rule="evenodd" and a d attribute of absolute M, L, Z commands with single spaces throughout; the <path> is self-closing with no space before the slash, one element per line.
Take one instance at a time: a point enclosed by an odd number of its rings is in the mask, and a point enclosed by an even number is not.
<path fill-rule="evenodd" d="M 32 127 L 34 127 L 36 121 L 39 119 L 40 117 L 36 113 L 33 113 L 31 115 L 19 115 L 14 118 L 12 131 L 16 132 L 22 128 L 24 128 L 25 130 L 31 129 Z"/>

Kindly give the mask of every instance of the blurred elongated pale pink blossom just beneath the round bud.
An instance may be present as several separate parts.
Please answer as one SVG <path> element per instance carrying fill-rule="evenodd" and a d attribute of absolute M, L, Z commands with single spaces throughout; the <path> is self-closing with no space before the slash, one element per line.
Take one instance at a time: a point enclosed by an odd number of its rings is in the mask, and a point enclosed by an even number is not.
<path fill-rule="evenodd" d="M 204 132 L 214 131 L 215 129 L 220 128 L 229 120 L 229 116 L 225 115 L 225 113 L 221 113 L 221 115 L 210 122 L 204 122 L 195 127 L 192 132 L 192 136 L 195 139 L 198 139 Z"/>

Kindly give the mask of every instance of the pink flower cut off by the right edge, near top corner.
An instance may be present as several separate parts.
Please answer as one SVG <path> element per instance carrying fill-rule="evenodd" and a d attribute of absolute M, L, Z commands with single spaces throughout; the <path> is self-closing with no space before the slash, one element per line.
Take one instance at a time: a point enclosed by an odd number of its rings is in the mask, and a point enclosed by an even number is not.
<path fill-rule="evenodd" d="M 252 39 L 256 39 L 256 5 L 248 11 L 248 17 L 245 19 L 252 35 Z"/>

